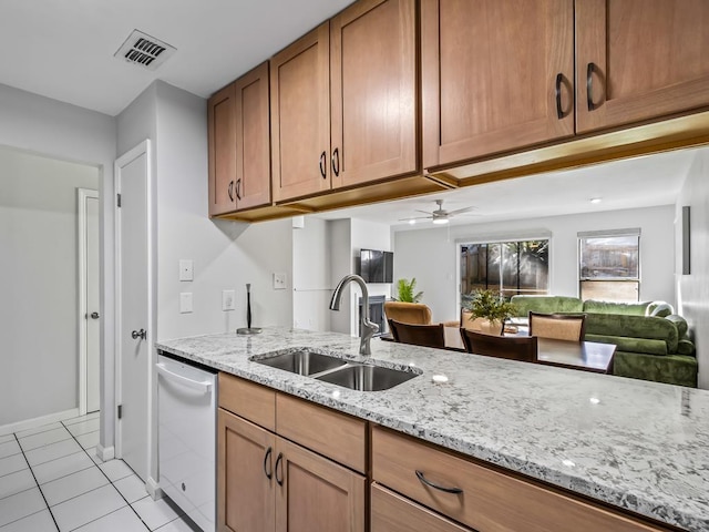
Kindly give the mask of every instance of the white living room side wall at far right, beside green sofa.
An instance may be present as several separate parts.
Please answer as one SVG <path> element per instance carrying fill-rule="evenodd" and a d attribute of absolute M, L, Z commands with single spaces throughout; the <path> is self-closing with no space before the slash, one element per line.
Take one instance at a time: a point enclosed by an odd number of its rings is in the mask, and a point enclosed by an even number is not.
<path fill-rule="evenodd" d="M 681 207 L 690 207 L 690 274 L 682 275 Z M 709 389 L 709 149 L 697 152 L 676 206 L 676 273 L 678 313 L 693 331 L 699 387 Z"/>

